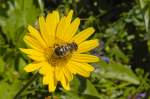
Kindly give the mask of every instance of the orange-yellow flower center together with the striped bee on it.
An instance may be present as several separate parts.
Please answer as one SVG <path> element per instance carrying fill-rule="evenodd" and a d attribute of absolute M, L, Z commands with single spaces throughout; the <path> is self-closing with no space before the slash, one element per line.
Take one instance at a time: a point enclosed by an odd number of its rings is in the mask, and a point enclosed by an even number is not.
<path fill-rule="evenodd" d="M 65 65 L 77 49 L 78 46 L 75 42 L 67 43 L 56 38 L 54 46 L 47 48 L 45 55 L 52 66 Z"/>

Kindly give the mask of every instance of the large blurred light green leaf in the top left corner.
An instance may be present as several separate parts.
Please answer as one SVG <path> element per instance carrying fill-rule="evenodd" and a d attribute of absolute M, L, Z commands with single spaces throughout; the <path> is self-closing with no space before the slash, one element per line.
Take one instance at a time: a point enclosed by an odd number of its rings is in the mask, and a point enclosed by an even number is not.
<path fill-rule="evenodd" d="M 6 34 L 9 41 L 14 45 L 22 41 L 24 32 L 28 24 L 33 24 L 39 15 L 40 9 L 36 8 L 34 0 L 15 0 L 9 2 L 7 18 L 0 19 L 2 31 Z M 21 42 L 22 43 L 22 42 Z"/>

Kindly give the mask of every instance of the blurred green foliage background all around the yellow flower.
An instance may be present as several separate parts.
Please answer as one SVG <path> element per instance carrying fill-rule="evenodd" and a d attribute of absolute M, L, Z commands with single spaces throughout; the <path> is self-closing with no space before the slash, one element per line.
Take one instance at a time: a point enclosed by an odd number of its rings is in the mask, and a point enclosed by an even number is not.
<path fill-rule="evenodd" d="M 34 73 L 23 68 L 31 60 L 26 47 L 27 25 L 57 9 L 74 10 L 79 30 L 96 29 L 100 46 L 90 53 L 101 61 L 88 79 L 74 76 L 71 91 L 57 87 L 54 99 L 150 99 L 150 0 L 0 0 L 0 99 L 13 99 Z M 16 99 L 51 99 L 42 76 Z"/>

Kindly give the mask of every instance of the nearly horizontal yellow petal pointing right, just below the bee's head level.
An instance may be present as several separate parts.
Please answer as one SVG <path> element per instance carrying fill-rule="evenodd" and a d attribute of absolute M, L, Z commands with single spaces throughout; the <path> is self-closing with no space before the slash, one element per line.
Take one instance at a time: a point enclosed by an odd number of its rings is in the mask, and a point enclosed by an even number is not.
<path fill-rule="evenodd" d="M 88 54 L 74 54 L 71 57 L 71 60 L 76 62 L 91 63 L 99 61 L 99 58 Z"/>

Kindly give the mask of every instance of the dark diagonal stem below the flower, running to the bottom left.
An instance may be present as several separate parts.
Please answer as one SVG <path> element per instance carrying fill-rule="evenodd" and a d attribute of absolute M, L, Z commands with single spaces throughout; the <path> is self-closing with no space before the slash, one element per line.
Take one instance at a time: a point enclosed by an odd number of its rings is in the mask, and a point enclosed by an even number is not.
<path fill-rule="evenodd" d="M 31 78 L 30 80 L 18 91 L 18 93 L 14 96 L 13 99 L 19 99 L 19 96 L 21 95 L 21 93 L 39 76 L 39 73 L 36 72 Z"/>

